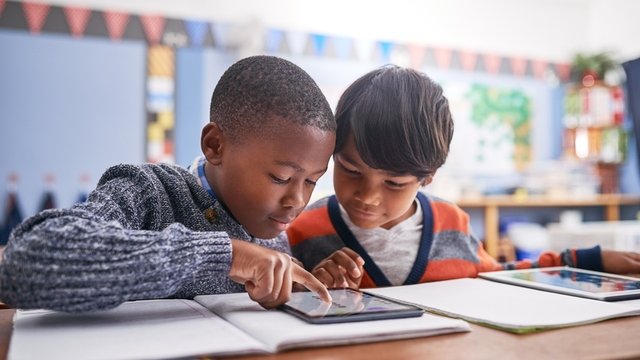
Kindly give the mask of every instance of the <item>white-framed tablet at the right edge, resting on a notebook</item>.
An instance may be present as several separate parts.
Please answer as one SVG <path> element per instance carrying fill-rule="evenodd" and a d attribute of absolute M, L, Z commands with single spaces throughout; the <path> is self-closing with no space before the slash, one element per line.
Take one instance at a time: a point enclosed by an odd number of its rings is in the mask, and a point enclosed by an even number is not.
<path fill-rule="evenodd" d="M 486 272 L 478 276 L 507 284 L 597 300 L 640 298 L 640 279 L 566 266 Z"/>

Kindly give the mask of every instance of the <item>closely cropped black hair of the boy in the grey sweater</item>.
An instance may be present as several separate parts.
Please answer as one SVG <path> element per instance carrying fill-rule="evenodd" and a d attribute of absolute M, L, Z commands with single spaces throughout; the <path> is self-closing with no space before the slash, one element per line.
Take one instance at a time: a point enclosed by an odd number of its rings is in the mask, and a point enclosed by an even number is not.
<path fill-rule="evenodd" d="M 233 140 L 277 131 L 277 117 L 335 131 L 336 123 L 316 82 L 297 65 L 275 56 L 251 56 L 229 67 L 211 96 L 209 120 Z"/>

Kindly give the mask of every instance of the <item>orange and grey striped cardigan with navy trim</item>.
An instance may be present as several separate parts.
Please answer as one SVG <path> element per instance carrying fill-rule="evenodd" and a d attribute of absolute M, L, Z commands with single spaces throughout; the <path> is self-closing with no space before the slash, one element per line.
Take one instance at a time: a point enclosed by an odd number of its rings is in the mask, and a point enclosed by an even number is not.
<path fill-rule="evenodd" d="M 602 270 L 599 247 L 579 251 L 570 249 L 563 253 L 544 252 L 536 261 L 499 263 L 471 233 L 466 212 L 455 204 L 421 192 L 417 199 L 423 210 L 418 255 L 415 259 L 396 259 L 413 264 L 403 285 L 476 277 L 479 272 L 485 271 L 531 267 L 570 265 Z M 335 196 L 318 200 L 305 209 L 289 226 L 287 236 L 293 256 L 308 270 L 346 246 L 365 260 L 365 274 L 360 287 L 391 285 L 384 271 L 378 268 L 345 224 Z"/>

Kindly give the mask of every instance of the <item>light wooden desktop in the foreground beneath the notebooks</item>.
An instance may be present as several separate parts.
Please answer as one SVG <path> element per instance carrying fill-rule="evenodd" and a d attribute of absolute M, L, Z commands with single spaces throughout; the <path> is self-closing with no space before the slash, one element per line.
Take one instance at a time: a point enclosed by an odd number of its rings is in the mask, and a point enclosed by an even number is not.
<path fill-rule="evenodd" d="M 14 310 L 0 310 L 0 359 L 5 359 Z M 640 358 L 640 316 L 541 333 L 515 335 L 471 325 L 470 333 L 286 351 L 264 359 L 630 359 Z M 37 344 L 34 344 L 37 346 Z"/>

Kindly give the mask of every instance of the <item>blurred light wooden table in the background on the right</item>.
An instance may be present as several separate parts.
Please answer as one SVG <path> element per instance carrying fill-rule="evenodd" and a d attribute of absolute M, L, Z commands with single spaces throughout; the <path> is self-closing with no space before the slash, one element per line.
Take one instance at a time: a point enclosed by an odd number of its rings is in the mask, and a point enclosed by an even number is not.
<path fill-rule="evenodd" d="M 594 195 L 589 197 L 556 198 L 549 196 L 512 196 L 495 195 L 473 199 L 462 199 L 456 204 L 461 208 L 484 208 L 485 247 L 487 252 L 497 258 L 500 208 L 541 208 L 541 207 L 589 207 L 602 206 L 607 221 L 620 220 L 620 206 L 640 204 L 637 195 Z"/>

